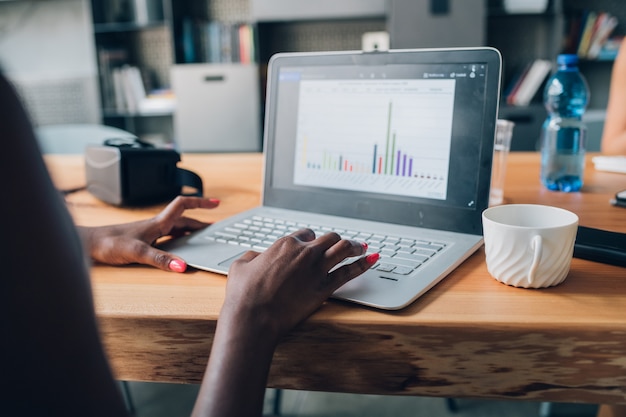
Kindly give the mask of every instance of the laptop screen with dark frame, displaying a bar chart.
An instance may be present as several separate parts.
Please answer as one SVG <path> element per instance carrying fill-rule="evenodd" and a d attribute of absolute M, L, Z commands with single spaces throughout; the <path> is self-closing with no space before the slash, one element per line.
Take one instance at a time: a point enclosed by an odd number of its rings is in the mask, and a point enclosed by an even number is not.
<path fill-rule="evenodd" d="M 289 54 L 270 68 L 265 205 L 446 230 L 486 208 L 494 50 Z"/>

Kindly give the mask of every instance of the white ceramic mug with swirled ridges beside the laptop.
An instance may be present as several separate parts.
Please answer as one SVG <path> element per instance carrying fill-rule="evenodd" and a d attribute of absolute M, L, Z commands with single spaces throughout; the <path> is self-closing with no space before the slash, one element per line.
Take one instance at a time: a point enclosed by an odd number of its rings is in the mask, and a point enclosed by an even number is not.
<path fill-rule="evenodd" d="M 537 204 L 507 204 L 483 212 L 487 270 L 498 281 L 545 288 L 565 280 L 578 216 Z"/>

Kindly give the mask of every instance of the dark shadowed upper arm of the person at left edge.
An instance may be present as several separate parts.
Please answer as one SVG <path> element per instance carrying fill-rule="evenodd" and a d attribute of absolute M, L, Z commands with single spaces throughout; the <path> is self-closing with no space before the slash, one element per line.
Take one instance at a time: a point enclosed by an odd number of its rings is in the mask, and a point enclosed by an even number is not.
<path fill-rule="evenodd" d="M 32 127 L 0 75 L 0 414 L 122 416 L 87 262 Z"/>

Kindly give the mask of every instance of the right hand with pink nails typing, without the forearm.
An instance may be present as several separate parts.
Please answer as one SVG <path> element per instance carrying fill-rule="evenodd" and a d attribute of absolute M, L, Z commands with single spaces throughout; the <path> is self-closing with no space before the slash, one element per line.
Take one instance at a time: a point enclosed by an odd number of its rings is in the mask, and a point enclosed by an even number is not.
<path fill-rule="evenodd" d="M 336 289 L 376 263 L 378 254 L 371 254 L 336 268 L 366 250 L 366 243 L 344 240 L 336 233 L 316 239 L 312 230 L 302 229 L 262 254 L 247 252 L 230 268 L 220 320 L 243 315 L 237 322 L 251 319 L 268 336 L 280 338 Z"/>

